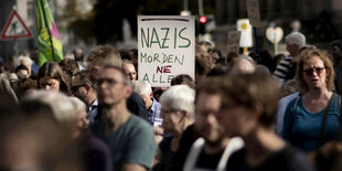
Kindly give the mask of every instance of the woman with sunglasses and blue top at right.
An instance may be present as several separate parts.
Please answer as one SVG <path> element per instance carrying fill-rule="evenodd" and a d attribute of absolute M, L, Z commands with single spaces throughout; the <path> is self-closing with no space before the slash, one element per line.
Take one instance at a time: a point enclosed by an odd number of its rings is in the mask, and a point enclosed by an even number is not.
<path fill-rule="evenodd" d="M 287 106 L 282 137 L 312 151 L 333 139 L 340 128 L 340 96 L 333 93 L 332 62 L 320 50 L 310 50 L 297 68 L 300 96 Z"/>

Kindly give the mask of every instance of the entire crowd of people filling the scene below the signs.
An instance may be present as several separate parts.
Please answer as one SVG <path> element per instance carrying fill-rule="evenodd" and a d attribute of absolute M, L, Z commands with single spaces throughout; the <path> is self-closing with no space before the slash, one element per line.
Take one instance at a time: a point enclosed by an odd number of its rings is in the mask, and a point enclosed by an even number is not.
<path fill-rule="evenodd" d="M 76 49 L 0 66 L 4 170 L 342 170 L 342 40 L 286 36 L 289 55 L 223 56 L 199 42 L 195 76 L 138 78 L 137 50 Z"/>

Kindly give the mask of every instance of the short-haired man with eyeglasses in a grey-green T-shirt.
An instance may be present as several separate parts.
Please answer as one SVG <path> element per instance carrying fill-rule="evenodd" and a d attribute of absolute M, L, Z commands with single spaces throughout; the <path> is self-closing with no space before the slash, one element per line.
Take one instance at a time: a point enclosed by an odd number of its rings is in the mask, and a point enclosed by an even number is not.
<path fill-rule="evenodd" d="M 97 86 L 105 121 L 95 122 L 93 132 L 109 145 L 114 170 L 149 170 L 157 151 L 154 133 L 150 124 L 127 108 L 132 93 L 127 74 L 120 67 L 105 66 Z"/>

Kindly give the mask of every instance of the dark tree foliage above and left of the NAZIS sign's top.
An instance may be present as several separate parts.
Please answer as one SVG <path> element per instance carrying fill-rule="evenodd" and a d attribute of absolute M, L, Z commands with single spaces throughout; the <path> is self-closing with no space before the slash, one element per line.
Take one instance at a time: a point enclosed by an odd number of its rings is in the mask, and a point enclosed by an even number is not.
<path fill-rule="evenodd" d="M 204 12 L 214 12 L 214 1 L 203 0 Z M 189 0 L 192 14 L 197 14 L 197 0 Z M 178 15 L 183 0 L 97 0 L 88 18 L 77 18 L 70 28 L 79 38 L 95 38 L 97 43 L 122 40 L 122 21 L 126 19 L 133 35 L 137 34 L 137 15 Z"/>

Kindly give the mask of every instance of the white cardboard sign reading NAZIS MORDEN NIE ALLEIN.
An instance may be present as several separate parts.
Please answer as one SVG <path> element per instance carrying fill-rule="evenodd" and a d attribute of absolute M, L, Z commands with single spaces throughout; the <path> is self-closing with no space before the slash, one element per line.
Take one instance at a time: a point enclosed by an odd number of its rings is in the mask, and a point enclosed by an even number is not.
<path fill-rule="evenodd" d="M 179 74 L 194 78 L 194 17 L 138 15 L 138 79 L 170 86 Z"/>

